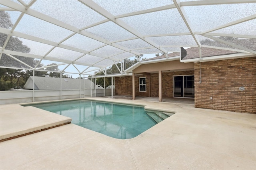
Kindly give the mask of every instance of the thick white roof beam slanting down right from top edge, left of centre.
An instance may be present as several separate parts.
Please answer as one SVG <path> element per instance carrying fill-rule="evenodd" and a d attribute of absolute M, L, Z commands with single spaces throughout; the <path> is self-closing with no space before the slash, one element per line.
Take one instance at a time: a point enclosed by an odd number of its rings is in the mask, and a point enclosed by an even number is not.
<path fill-rule="evenodd" d="M 126 24 L 122 20 L 120 20 L 118 18 L 115 18 L 114 15 L 110 14 L 107 10 L 105 10 L 104 8 L 102 8 L 101 6 L 96 4 L 95 2 L 93 2 L 91 0 L 90 1 L 89 0 L 78 0 L 78 1 L 80 1 L 82 4 L 88 6 L 92 10 L 98 12 L 100 15 L 104 16 L 105 18 L 108 18 L 109 20 L 111 20 L 112 22 L 114 22 L 118 26 L 124 28 L 126 31 L 130 32 L 134 36 L 137 36 L 138 38 L 142 39 L 143 41 L 145 41 L 145 42 L 149 43 L 150 45 L 156 47 L 160 51 L 167 52 L 165 49 L 160 48 L 159 45 L 156 44 L 155 42 L 151 41 L 148 38 L 144 38 L 144 36 L 142 34 L 137 32 L 136 30 L 134 30 L 132 27 L 130 27 L 128 24 Z M 136 54 L 136 55 L 140 55 L 140 54 Z"/>

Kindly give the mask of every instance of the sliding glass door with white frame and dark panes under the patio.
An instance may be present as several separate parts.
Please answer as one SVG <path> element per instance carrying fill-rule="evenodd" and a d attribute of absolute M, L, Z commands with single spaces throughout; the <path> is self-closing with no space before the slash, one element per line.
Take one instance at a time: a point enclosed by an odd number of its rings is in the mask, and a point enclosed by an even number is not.
<path fill-rule="evenodd" d="M 194 98 L 194 75 L 174 76 L 174 97 Z"/>

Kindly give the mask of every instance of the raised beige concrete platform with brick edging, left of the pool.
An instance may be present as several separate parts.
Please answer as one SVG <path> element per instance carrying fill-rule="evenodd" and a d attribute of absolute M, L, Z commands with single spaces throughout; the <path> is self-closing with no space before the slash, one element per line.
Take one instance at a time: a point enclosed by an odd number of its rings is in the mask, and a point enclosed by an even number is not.
<path fill-rule="evenodd" d="M 19 104 L 0 105 L 0 110 L 0 142 L 67 125 L 72 121 L 69 117 Z"/>

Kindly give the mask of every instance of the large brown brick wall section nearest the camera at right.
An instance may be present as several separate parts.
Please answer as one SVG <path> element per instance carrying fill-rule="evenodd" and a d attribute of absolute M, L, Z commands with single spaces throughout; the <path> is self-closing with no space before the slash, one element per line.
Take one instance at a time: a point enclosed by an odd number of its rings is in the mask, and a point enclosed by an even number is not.
<path fill-rule="evenodd" d="M 200 63 L 194 74 L 195 107 L 256 113 L 256 57 L 202 62 L 202 83 Z"/>

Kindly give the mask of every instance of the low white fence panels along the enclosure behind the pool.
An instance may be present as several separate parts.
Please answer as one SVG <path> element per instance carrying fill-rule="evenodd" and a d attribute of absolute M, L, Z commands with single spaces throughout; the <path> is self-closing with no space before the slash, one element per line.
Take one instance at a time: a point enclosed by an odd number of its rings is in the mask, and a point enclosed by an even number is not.
<path fill-rule="evenodd" d="M 112 89 L 35 90 L 34 93 L 32 90 L 0 91 L 0 105 L 111 96 L 111 90 Z"/>

